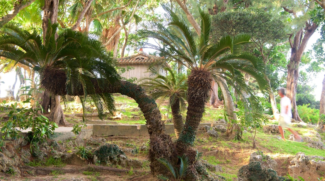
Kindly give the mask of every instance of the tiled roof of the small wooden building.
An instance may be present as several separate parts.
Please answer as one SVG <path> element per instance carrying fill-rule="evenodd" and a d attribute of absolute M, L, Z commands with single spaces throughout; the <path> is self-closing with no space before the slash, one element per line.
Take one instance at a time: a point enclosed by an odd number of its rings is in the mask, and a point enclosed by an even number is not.
<path fill-rule="evenodd" d="M 139 51 L 136 54 L 126 56 L 123 58 L 117 58 L 117 62 L 119 64 L 150 64 L 157 60 L 161 60 L 163 57 L 152 56 L 144 53 L 143 51 Z"/>

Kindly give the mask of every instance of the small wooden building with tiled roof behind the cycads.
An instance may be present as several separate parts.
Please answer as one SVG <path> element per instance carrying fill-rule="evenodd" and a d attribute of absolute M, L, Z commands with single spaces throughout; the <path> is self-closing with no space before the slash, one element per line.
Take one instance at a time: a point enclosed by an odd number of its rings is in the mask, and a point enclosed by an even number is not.
<path fill-rule="evenodd" d="M 129 70 L 123 73 L 121 76 L 124 78 L 137 78 L 140 80 L 144 77 L 149 77 L 150 72 L 148 72 L 148 67 L 150 64 L 162 60 L 164 57 L 153 56 L 143 52 L 141 48 L 138 53 L 126 56 L 123 58 L 117 58 L 118 66 L 126 68 L 127 66 L 134 67 L 133 70 Z M 165 71 L 160 72 L 161 75 L 165 75 Z"/>

